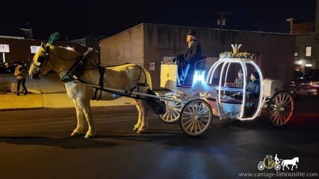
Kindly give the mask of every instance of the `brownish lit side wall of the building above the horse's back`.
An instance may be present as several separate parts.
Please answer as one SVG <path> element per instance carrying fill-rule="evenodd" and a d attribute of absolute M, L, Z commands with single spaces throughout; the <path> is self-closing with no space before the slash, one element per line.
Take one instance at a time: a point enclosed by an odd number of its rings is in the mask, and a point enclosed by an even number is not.
<path fill-rule="evenodd" d="M 102 65 L 120 65 L 126 62 L 144 65 L 142 24 L 101 41 Z"/>

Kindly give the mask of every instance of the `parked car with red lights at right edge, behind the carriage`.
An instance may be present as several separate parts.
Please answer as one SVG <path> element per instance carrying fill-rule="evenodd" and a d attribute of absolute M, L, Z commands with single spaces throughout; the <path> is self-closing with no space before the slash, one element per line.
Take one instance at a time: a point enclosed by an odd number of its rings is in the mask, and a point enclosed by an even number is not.
<path fill-rule="evenodd" d="M 311 69 L 290 82 L 294 95 L 319 95 L 319 69 Z"/>

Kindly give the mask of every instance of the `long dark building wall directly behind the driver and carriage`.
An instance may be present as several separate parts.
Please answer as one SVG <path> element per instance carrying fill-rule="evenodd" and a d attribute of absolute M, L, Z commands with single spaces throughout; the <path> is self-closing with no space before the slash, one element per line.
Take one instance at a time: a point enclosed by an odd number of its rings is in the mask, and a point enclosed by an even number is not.
<path fill-rule="evenodd" d="M 184 51 L 189 28 L 144 24 L 145 63 L 156 62 L 156 70 L 151 71 L 154 88 L 159 86 L 161 60 Z M 220 52 L 231 51 L 230 44 L 243 44 L 241 51 L 258 54 L 257 64 L 265 78 L 281 79 L 285 85 L 292 79 L 293 35 L 207 28 L 196 28 L 196 32 L 203 56 L 217 58 Z"/>

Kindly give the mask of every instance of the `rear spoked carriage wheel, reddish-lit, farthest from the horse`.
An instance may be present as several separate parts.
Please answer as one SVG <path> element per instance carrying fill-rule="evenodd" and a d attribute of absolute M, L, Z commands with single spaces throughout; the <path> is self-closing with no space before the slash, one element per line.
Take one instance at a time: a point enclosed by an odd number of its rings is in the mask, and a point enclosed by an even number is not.
<path fill-rule="evenodd" d="M 268 102 L 268 118 L 275 126 L 284 126 L 292 118 L 294 99 L 287 91 L 278 91 Z"/>

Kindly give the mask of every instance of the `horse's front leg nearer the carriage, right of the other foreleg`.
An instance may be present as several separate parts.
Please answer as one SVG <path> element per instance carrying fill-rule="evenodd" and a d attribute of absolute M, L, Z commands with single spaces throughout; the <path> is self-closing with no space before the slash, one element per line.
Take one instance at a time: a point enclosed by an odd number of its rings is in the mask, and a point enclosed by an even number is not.
<path fill-rule="evenodd" d="M 89 127 L 87 133 L 85 134 L 85 138 L 91 138 L 95 135 L 95 126 L 92 119 L 91 106 L 89 104 L 89 98 L 80 98 L 77 100 L 80 105 L 83 113 L 85 114 L 85 118 L 87 119 L 87 126 Z"/>

